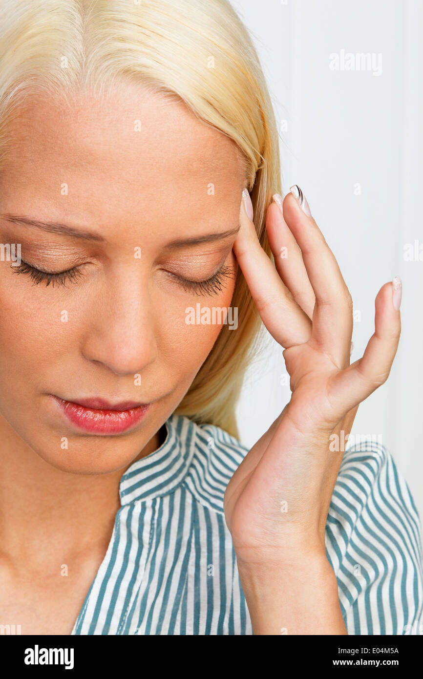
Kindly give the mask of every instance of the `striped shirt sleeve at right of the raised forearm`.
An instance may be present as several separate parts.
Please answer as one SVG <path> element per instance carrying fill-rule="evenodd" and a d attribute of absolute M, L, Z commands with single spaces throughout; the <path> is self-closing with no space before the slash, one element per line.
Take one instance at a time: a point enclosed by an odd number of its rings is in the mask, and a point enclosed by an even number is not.
<path fill-rule="evenodd" d="M 344 455 L 326 526 L 349 634 L 423 634 L 420 520 L 392 456 L 377 443 Z"/>

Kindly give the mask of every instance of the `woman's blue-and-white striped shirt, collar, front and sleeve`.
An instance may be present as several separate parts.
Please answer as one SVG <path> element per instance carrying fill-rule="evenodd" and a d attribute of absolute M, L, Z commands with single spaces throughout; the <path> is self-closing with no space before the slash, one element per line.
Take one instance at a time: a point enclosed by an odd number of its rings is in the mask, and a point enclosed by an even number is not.
<path fill-rule="evenodd" d="M 122 475 L 121 507 L 71 634 L 253 634 L 223 494 L 248 450 L 184 416 Z M 392 456 L 344 454 L 326 524 L 349 634 L 423 634 L 420 521 Z"/>

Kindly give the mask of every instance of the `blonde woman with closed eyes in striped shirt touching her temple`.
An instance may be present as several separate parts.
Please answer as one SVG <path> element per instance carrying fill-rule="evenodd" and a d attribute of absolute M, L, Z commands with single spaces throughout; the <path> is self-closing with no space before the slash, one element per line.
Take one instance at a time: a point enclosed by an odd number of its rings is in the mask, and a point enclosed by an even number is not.
<path fill-rule="evenodd" d="M 7 0 L 0 23 L 0 623 L 418 634 L 407 485 L 382 447 L 333 452 L 388 378 L 401 282 L 350 365 L 351 297 L 301 189 L 280 197 L 232 7 Z M 247 451 L 261 324 L 293 393 Z"/>

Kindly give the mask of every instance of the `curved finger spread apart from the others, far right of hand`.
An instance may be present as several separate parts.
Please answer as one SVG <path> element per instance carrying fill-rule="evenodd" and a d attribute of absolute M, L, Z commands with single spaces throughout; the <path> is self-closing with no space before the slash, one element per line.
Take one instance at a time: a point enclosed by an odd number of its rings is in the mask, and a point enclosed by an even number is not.
<path fill-rule="evenodd" d="M 375 299 L 375 332 L 363 357 L 333 379 L 329 400 L 342 411 L 367 399 L 388 379 L 401 333 L 401 315 L 394 306 L 398 291 L 401 291 L 399 278 L 382 286 Z"/>

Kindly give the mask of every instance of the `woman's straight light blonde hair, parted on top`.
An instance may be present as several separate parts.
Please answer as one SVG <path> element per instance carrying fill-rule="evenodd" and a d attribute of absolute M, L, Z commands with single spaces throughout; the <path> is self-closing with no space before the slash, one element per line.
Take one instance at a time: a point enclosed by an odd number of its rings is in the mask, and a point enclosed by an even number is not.
<path fill-rule="evenodd" d="M 272 257 L 265 212 L 280 193 L 278 132 L 259 58 L 227 0 L 3 0 L 0 9 L 0 166 L 7 123 L 33 93 L 67 97 L 138 81 L 183 102 L 238 145 L 257 235 Z M 238 329 L 219 337 L 175 412 L 238 437 L 235 406 L 261 320 L 238 270 Z"/>

